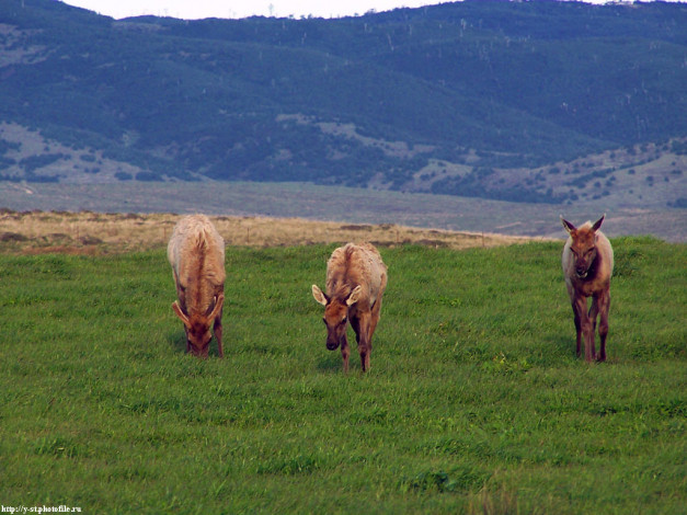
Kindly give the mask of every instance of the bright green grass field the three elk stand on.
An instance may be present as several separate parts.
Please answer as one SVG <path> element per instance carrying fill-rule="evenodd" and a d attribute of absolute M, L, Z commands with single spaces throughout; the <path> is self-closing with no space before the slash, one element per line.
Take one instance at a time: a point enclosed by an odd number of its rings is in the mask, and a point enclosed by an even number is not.
<path fill-rule="evenodd" d="M 163 251 L 0 256 L 0 504 L 84 513 L 686 513 L 687 247 L 612 240 L 609 360 L 560 243 L 380 249 L 371 371 L 324 347 L 333 247 L 227 250 L 226 358 Z"/>

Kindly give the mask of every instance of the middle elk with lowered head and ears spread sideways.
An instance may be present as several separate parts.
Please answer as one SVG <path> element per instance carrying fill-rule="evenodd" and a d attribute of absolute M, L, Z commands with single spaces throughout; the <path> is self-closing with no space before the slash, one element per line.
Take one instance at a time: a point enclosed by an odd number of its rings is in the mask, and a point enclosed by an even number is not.
<path fill-rule="evenodd" d="M 370 243 L 348 243 L 332 252 L 327 262 L 327 295 L 312 285 L 314 300 L 324 306 L 327 348 L 341 346 L 344 371 L 348 371 L 348 322 L 355 331 L 363 371 L 369 370 L 373 334 L 386 287 L 387 266 Z"/>

